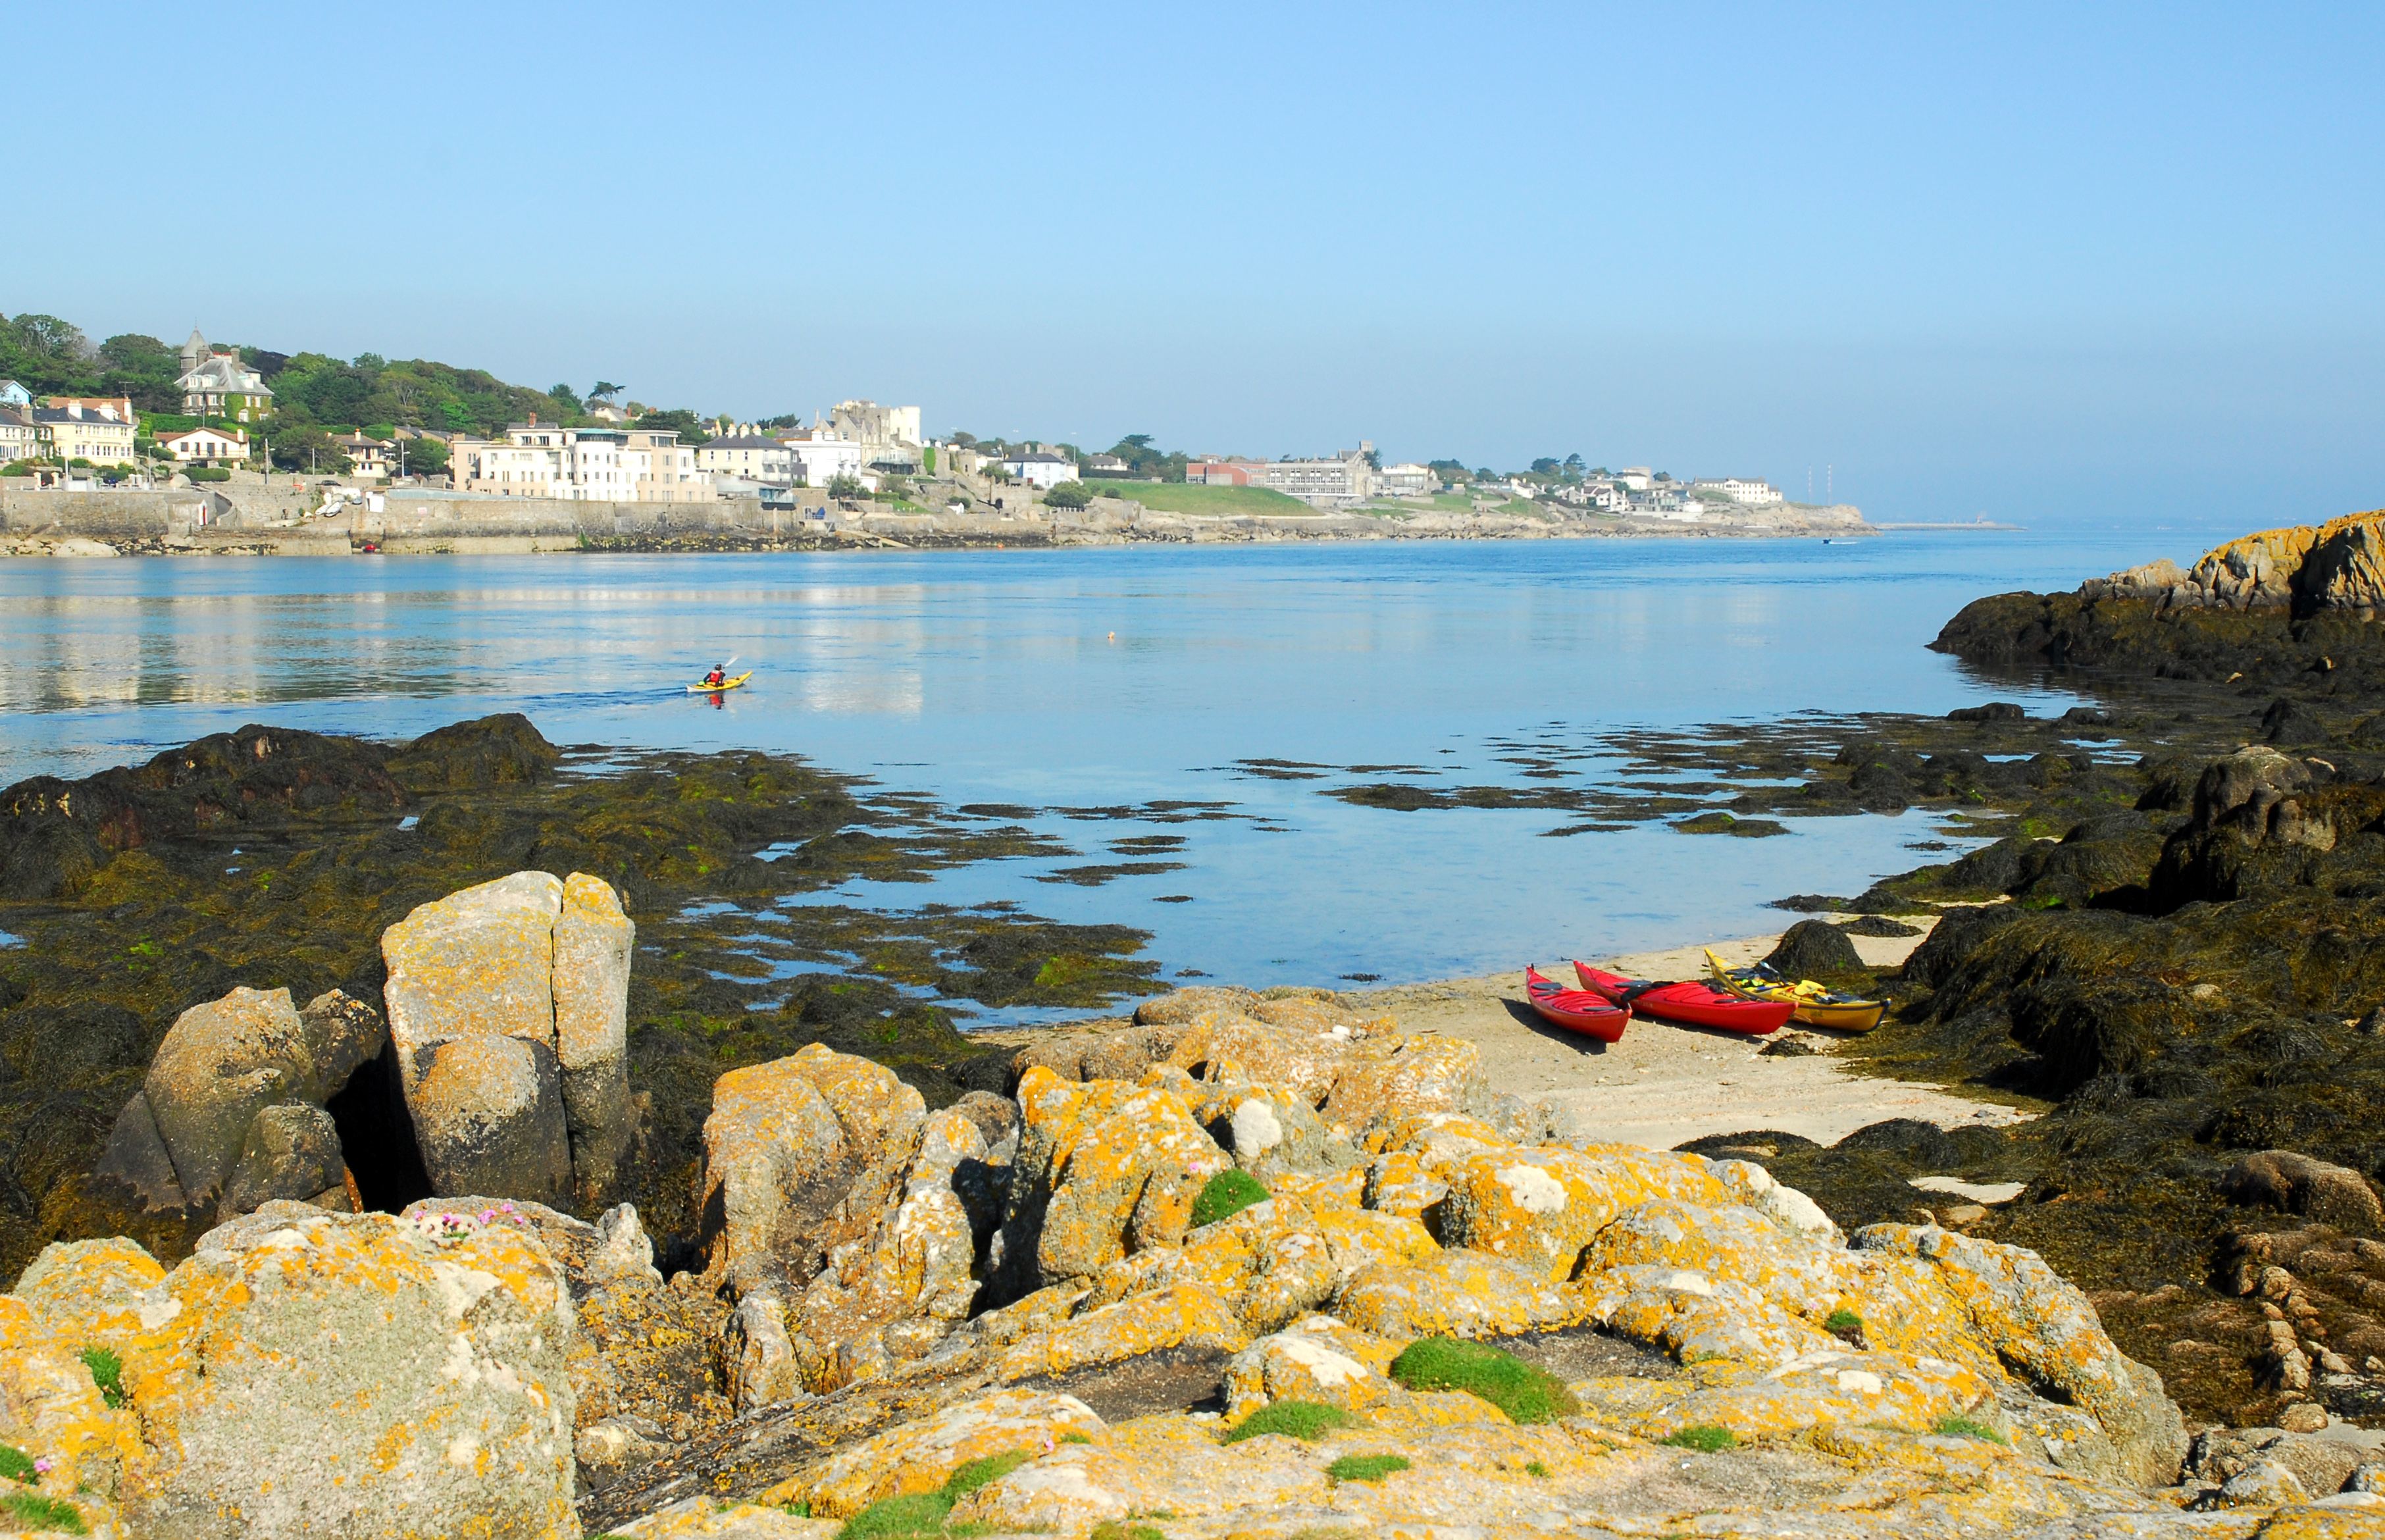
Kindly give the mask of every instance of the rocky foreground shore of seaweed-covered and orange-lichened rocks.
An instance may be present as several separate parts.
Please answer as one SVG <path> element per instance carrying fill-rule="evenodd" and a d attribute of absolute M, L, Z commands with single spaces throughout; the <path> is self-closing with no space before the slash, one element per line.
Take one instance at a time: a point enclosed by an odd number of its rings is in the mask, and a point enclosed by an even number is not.
<path fill-rule="evenodd" d="M 1617 1144 L 1493 1089 L 1424 992 L 789 920 L 1035 849 L 799 760 L 596 775 L 491 718 L 12 787 L 0 1499 L 124 1535 L 2375 1533 L 2380 517 L 1949 622 L 2104 701 L 2061 722 L 1650 737 L 1607 784 L 1569 777 L 1615 744 L 1531 739 L 1522 791 L 1271 765 L 1386 815 L 2011 830 L 1784 899 L 1782 965 L 1891 1001 L 1805 1047 L 2030 1113 L 1827 1144 Z M 842 973 L 754 1011 L 682 961 L 725 923 Z M 899 977 L 1145 999 L 968 1037 Z"/>

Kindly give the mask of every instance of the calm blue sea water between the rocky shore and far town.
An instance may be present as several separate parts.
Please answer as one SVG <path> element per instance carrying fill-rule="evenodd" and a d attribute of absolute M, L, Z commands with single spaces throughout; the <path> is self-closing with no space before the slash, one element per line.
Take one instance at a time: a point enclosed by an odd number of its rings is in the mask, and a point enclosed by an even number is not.
<path fill-rule="evenodd" d="M 1932 822 L 1784 839 L 1665 827 L 1543 839 L 1538 811 L 1352 808 L 1350 777 L 1512 782 L 1495 741 L 1791 710 L 1941 713 L 2068 696 L 1925 651 L 1963 603 L 2230 529 L 1867 541 L 1481 541 L 1059 553 L 0 560 L 0 782 L 83 775 L 241 722 L 413 737 L 525 710 L 558 744 L 773 749 L 947 803 L 1045 808 L 1076 861 L 1006 861 L 875 908 L 1018 901 L 1154 932 L 1171 973 L 1328 982 L 1770 930 L 1767 899 L 1860 892 Z M 737 656 L 723 706 L 682 684 Z M 1374 777 L 1367 777 L 1374 780 Z M 1245 818 L 1054 808 L 1224 801 Z M 1185 870 L 1037 882 L 1181 834 Z M 1727 849 L 1717 849 L 1727 846 Z M 1159 901 L 1181 899 L 1190 901 Z"/>

